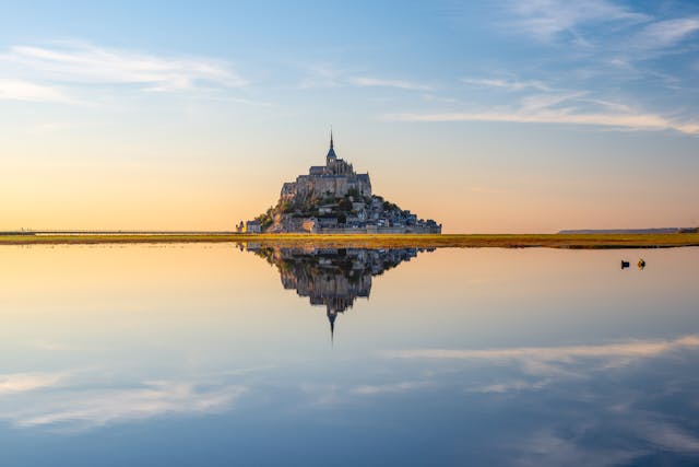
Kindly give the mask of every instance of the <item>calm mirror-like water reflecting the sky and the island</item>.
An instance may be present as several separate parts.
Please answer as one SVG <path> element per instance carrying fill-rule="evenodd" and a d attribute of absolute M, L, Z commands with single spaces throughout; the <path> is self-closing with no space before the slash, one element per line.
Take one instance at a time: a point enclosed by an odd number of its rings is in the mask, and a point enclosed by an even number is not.
<path fill-rule="evenodd" d="M 0 261 L 2 465 L 699 464 L 699 248 Z"/>

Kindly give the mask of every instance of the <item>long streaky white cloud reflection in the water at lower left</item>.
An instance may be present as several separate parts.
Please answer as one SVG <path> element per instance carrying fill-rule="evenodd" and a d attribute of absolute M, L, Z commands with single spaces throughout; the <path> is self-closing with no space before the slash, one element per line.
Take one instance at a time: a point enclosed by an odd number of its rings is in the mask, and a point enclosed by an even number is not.
<path fill-rule="evenodd" d="M 17 427 L 63 424 L 84 429 L 169 413 L 212 412 L 228 407 L 245 388 L 200 387 L 193 383 L 149 382 L 132 389 L 63 390 L 21 410 L 0 413 Z"/>

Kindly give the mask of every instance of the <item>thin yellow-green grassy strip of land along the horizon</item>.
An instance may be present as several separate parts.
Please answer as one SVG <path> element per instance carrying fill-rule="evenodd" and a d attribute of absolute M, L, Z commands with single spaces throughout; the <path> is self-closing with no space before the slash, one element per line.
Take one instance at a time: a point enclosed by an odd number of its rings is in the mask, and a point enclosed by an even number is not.
<path fill-rule="evenodd" d="M 667 234 L 237 234 L 228 232 L 1 233 L 1 245 L 94 245 L 162 243 L 265 243 L 358 248 L 670 248 L 699 246 L 697 233 Z"/>

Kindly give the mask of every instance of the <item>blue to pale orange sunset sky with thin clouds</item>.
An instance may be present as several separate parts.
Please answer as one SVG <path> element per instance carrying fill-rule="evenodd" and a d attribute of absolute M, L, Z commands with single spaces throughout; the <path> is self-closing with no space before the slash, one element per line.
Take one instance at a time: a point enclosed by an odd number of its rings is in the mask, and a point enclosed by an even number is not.
<path fill-rule="evenodd" d="M 449 233 L 699 225 L 699 3 L 0 1 L 0 230 L 233 230 L 335 150 Z"/>

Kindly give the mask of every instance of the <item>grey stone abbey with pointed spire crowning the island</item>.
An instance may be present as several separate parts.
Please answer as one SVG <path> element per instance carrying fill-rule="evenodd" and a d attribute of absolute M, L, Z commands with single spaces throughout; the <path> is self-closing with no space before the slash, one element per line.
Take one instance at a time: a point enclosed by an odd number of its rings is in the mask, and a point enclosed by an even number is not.
<path fill-rule="evenodd" d="M 360 197 L 371 196 L 369 174 L 357 174 L 352 164 L 339 159 L 330 133 L 330 150 L 325 155 L 325 165 L 315 165 L 308 175 L 299 175 L 296 182 L 282 186 L 281 199 L 322 199 L 327 197 L 342 198 L 350 192 Z"/>

